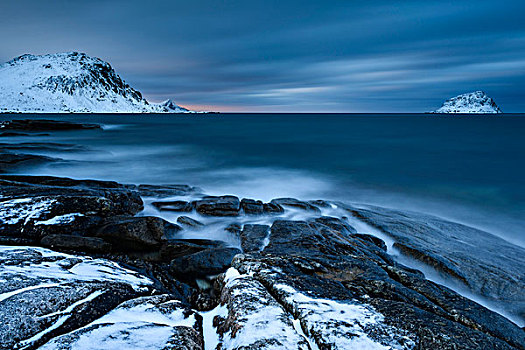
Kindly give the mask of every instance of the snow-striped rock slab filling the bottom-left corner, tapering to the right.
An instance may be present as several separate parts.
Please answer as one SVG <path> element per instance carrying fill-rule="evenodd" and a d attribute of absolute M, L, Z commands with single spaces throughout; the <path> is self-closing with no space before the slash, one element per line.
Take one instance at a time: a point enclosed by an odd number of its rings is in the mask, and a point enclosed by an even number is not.
<path fill-rule="evenodd" d="M 34 349 L 153 288 L 109 260 L 26 246 L 0 246 L 0 282 L 0 349 Z"/>

